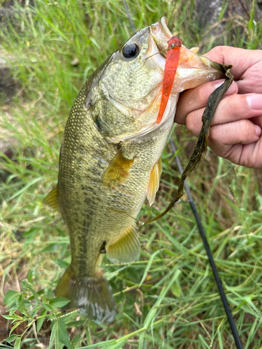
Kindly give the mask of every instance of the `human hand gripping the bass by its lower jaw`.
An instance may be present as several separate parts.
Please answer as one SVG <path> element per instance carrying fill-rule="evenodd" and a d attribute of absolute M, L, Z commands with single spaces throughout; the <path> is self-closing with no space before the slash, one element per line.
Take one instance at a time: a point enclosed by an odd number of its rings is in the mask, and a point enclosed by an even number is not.
<path fill-rule="evenodd" d="M 232 64 L 235 81 L 214 114 L 208 145 L 222 158 L 248 168 L 262 168 L 262 50 L 218 46 L 205 54 Z M 224 80 L 202 84 L 181 94 L 175 122 L 198 136 L 208 97 Z"/>

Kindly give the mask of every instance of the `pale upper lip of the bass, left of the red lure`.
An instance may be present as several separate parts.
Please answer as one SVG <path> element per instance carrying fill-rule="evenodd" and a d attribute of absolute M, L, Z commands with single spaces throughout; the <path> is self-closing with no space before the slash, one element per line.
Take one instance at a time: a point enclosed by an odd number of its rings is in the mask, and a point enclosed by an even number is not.
<path fill-rule="evenodd" d="M 166 58 L 166 50 L 168 49 L 168 41 L 172 38 L 172 33 L 168 29 L 168 20 L 162 17 L 159 22 L 152 24 L 150 34 L 157 44 L 159 53 Z"/>

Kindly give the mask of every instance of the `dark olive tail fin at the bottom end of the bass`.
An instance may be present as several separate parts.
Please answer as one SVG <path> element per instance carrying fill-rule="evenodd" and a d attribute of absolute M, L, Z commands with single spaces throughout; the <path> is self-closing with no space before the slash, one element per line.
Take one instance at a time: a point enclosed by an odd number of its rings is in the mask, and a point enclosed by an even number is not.
<path fill-rule="evenodd" d="M 103 276 L 76 279 L 68 267 L 57 285 L 55 295 L 70 299 L 66 309 L 79 308 L 80 313 L 94 322 L 112 322 L 115 318 L 115 300 Z"/>

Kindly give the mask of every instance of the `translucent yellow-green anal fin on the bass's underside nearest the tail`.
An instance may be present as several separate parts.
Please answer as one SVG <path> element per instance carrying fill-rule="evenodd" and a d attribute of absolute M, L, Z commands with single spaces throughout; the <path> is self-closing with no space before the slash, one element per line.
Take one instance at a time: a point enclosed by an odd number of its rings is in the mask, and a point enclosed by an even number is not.
<path fill-rule="evenodd" d="M 113 263 L 129 263 L 138 258 L 139 251 L 138 233 L 136 232 L 136 226 L 132 225 L 114 244 L 106 248 L 106 255 Z"/>

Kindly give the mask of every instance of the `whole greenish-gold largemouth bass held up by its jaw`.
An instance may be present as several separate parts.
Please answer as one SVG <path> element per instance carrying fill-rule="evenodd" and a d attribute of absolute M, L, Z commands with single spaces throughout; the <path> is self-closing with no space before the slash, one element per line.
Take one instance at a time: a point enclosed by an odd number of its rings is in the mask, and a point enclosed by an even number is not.
<path fill-rule="evenodd" d="M 162 17 L 137 31 L 87 79 L 66 122 L 57 187 L 44 200 L 61 212 L 70 236 L 71 264 L 55 295 L 98 323 L 112 322 L 116 313 L 103 255 L 113 263 L 138 258 L 136 217 L 159 189 L 161 154 L 180 92 L 224 77 L 217 64 L 181 44 L 158 119 L 171 49 L 167 24 Z"/>

